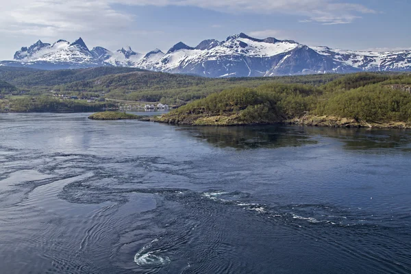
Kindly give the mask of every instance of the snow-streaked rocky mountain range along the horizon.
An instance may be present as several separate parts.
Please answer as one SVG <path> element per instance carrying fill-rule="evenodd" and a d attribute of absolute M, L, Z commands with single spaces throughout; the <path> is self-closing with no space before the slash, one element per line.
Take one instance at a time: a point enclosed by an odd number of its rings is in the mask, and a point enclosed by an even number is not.
<path fill-rule="evenodd" d="M 293 40 L 256 39 L 246 34 L 219 42 L 203 40 L 197 47 L 178 42 L 166 53 L 154 49 L 136 53 L 131 47 L 110 51 L 88 49 L 79 38 L 51 44 L 38 40 L 0 66 L 37 69 L 78 69 L 93 66 L 129 66 L 150 71 L 186 73 L 205 77 L 256 77 L 358 71 L 411 71 L 411 51 L 345 51 L 308 47 Z"/>

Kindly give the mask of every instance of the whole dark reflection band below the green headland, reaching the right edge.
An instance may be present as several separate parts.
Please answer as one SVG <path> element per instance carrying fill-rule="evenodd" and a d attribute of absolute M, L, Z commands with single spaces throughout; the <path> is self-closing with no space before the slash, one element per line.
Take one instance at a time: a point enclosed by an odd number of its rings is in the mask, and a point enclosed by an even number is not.
<path fill-rule="evenodd" d="M 411 150 L 411 131 L 400 129 L 345 129 L 284 125 L 240 127 L 178 127 L 178 131 L 214 145 L 234 149 L 299 147 L 317 143 L 315 136 L 336 138 L 347 150 Z"/>

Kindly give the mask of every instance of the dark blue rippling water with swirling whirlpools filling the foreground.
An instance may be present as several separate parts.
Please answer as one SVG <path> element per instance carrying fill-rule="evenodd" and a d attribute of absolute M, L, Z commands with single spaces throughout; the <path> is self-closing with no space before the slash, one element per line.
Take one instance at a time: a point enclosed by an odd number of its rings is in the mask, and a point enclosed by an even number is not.
<path fill-rule="evenodd" d="M 0 273 L 411 273 L 411 132 L 0 115 Z"/>

